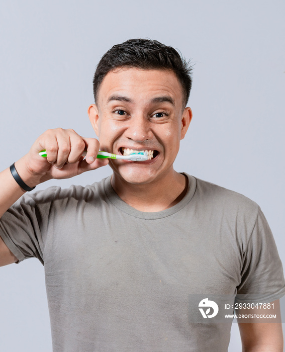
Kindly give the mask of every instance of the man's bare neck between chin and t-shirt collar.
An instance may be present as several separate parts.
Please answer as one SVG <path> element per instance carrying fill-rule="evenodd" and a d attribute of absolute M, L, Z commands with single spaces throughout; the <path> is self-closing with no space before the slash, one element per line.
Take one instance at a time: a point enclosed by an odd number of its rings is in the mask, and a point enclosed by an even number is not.
<path fill-rule="evenodd" d="M 188 179 L 174 170 L 166 177 L 144 185 L 125 182 L 115 173 L 111 185 L 117 195 L 131 207 L 143 212 L 157 212 L 173 207 L 185 196 Z"/>

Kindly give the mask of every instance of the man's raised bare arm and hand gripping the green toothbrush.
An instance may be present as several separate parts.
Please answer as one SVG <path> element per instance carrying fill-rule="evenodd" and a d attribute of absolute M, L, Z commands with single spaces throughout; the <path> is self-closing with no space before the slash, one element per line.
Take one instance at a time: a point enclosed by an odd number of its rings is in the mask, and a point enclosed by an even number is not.
<path fill-rule="evenodd" d="M 15 167 L 22 181 L 32 188 L 51 179 L 67 179 L 107 165 L 107 159 L 96 159 L 99 148 L 97 139 L 83 138 L 73 130 L 56 128 L 44 132 L 29 153 L 15 162 Z M 43 149 L 47 151 L 47 158 L 38 154 Z M 83 160 L 84 150 L 87 150 L 87 154 Z M 24 193 L 10 168 L 0 172 L 0 217 Z M 17 260 L 0 236 L 0 267 Z"/>

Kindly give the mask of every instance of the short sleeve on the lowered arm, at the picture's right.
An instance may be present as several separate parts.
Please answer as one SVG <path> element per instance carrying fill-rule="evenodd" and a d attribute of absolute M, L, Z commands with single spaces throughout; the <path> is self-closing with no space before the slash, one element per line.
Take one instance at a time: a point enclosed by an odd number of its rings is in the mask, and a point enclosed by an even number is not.
<path fill-rule="evenodd" d="M 238 300 L 272 302 L 285 295 L 282 263 L 269 225 L 258 207 L 257 218 L 243 253 Z M 242 298 L 241 298 L 242 297 Z"/>

